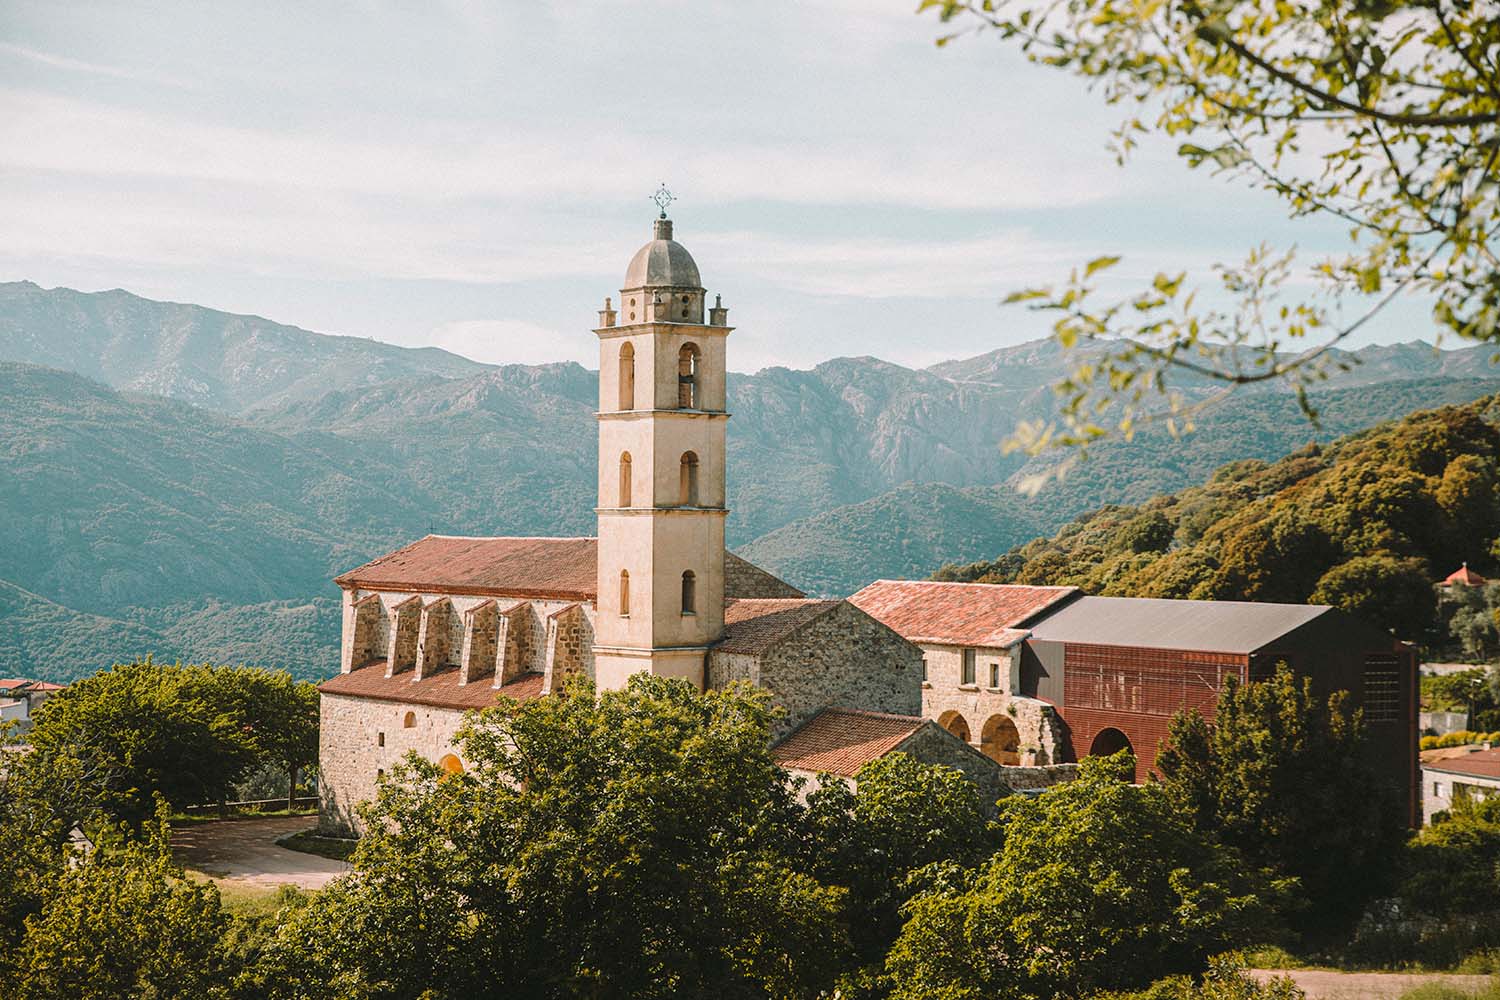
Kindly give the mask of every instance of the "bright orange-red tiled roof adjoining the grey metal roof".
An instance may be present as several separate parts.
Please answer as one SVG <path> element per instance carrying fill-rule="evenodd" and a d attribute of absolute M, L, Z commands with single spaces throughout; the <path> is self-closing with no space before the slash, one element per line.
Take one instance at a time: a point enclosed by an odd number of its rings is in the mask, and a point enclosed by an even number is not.
<path fill-rule="evenodd" d="M 849 603 L 910 642 L 1008 646 L 1026 637 L 1022 625 L 1076 594 L 1076 586 L 876 580 Z"/>

